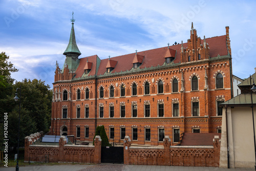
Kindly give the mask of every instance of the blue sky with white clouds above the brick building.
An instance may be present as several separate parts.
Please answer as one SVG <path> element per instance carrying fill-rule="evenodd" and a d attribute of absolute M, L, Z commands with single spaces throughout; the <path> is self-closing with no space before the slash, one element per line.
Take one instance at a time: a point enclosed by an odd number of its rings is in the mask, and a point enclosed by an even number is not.
<path fill-rule="evenodd" d="M 233 74 L 247 78 L 256 67 L 256 1 L 0 1 L 0 51 L 19 69 L 18 81 L 45 80 L 52 87 L 56 60 L 62 67 L 74 11 L 79 57 L 101 59 L 186 42 L 191 22 L 201 38 L 225 35 L 229 26 Z"/>

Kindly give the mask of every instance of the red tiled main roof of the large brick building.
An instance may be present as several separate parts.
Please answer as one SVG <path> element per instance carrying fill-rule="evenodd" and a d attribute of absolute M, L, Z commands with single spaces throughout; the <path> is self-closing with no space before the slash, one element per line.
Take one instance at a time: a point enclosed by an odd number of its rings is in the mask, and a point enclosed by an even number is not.
<path fill-rule="evenodd" d="M 203 40 L 202 45 L 203 45 Z M 210 57 L 217 57 L 218 55 L 224 56 L 228 54 L 227 46 L 226 46 L 226 35 L 223 36 L 216 36 L 211 38 L 206 38 L 206 43 L 209 45 L 209 55 Z M 184 48 L 187 48 L 187 43 L 183 44 Z M 176 56 L 174 55 L 174 52 L 176 52 Z M 168 47 L 163 48 L 157 48 L 142 52 L 137 52 L 137 56 L 143 56 L 143 62 L 140 66 L 140 68 L 149 68 L 149 67 L 156 67 L 158 65 L 162 66 L 165 62 L 165 56 L 166 54 L 170 53 L 170 55 L 175 56 L 174 63 L 180 62 L 181 57 L 181 44 L 169 46 L 169 52 Z M 121 55 L 106 59 L 100 60 L 100 65 L 98 68 L 97 75 L 103 75 L 106 72 L 106 68 L 112 67 L 114 70 L 112 73 L 115 72 L 121 72 L 121 71 L 130 71 L 133 68 L 133 62 L 135 60 L 136 53 L 127 54 L 127 55 Z M 167 55 L 168 56 L 168 55 Z M 89 58 L 89 62 L 92 62 L 92 70 L 89 75 L 93 75 L 96 72 L 96 61 L 97 61 L 97 55 L 85 57 L 80 59 L 79 67 L 76 70 L 76 78 L 82 76 L 82 73 L 84 72 L 84 66 L 86 66 L 87 58 Z M 141 60 L 138 58 L 138 61 Z"/>

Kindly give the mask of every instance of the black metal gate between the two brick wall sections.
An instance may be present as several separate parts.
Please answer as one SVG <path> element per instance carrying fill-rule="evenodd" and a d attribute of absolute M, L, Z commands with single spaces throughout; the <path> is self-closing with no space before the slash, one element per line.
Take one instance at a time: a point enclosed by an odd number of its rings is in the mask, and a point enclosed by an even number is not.
<path fill-rule="evenodd" d="M 123 163 L 123 147 L 102 146 L 101 163 Z"/>

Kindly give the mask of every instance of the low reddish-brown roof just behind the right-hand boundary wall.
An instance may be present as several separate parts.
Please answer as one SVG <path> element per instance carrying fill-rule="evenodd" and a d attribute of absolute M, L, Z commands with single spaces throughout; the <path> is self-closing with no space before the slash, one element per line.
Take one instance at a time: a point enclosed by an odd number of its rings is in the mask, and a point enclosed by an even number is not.
<path fill-rule="evenodd" d="M 221 139 L 220 133 L 184 133 L 180 145 L 212 145 L 216 135 Z"/>

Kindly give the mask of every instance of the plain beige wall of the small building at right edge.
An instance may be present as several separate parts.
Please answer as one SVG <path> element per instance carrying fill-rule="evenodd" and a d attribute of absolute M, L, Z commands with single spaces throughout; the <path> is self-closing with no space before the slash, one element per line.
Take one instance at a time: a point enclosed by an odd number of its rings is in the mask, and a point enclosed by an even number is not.
<path fill-rule="evenodd" d="M 252 111 L 250 107 L 228 107 L 228 141 L 230 168 L 249 167 L 255 164 Z M 225 108 L 222 116 L 222 139 L 220 167 L 227 165 L 226 152 L 226 118 Z M 254 107 L 254 123 L 256 124 L 256 107 Z M 256 131 L 256 130 L 255 130 Z M 226 165 L 226 166 L 225 166 Z"/>

